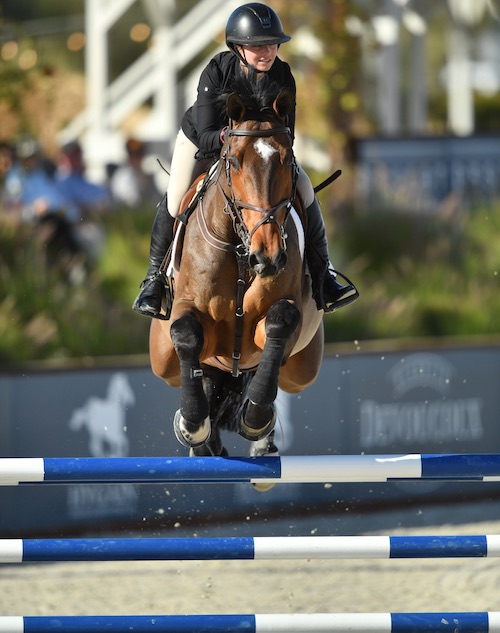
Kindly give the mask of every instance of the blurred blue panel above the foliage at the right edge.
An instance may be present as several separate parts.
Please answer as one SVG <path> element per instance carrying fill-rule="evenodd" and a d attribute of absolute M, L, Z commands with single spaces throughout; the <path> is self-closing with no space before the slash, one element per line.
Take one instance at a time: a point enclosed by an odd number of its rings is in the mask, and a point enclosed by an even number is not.
<path fill-rule="evenodd" d="M 356 194 L 368 208 L 378 202 L 401 210 L 403 200 L 413 211 L 435 214 L 449 196 L 469 207 L 498 198 L 495 135 L 357 139 L 353 151 Z"/>

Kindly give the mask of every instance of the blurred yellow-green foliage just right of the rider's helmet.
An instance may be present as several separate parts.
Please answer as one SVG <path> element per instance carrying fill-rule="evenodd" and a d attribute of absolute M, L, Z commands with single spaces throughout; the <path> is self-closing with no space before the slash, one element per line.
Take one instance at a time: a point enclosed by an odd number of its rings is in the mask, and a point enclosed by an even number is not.
<path fill-rule="evenodd" d="M 292 35 L 282 53 L 297 80 L 298 126 L 334 164 L 343 163 L 352 136 L 367 131 L 359 38 L 345 28 L 348 16 L 364 18 L 365 13 L 349 0 L 280 0 L 274 5 Z"/>

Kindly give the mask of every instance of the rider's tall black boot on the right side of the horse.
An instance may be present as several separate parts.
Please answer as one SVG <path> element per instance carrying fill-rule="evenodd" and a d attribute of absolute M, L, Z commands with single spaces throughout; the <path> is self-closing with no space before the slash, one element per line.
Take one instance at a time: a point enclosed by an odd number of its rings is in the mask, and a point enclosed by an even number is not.
<path fill-rule="evenodd" d="M 311 206 L 306 209 L 306 213 L 306 259 L 311 273 L 313 297 L 318 310 L 334 312 L 356 301 L 359 292 L 354 284 L 342 273 L 336 272 L 330 263 L 325 223 L 316 196 Z M 337 275 L 345 279 L 347 285 L 339 284 Z"/>

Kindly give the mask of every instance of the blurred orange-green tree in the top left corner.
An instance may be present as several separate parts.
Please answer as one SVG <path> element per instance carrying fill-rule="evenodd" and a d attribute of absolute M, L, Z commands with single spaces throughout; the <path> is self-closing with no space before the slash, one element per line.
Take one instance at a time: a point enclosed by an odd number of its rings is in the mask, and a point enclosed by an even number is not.
<path fill-rule="evenodd" d="M 83 51 L 68 46 L 74 20 L 64 15 L 67 7 L 59 11 L 62 4 L 67 3 L 0 5 L 2 140 L 28 133 L 55 151 L 57 133 L 83 106 Z M 70 6 L 71 13 L 82 10 L 83 0 Z M 83 16 L 77 22 L 83 25 Z"/>

